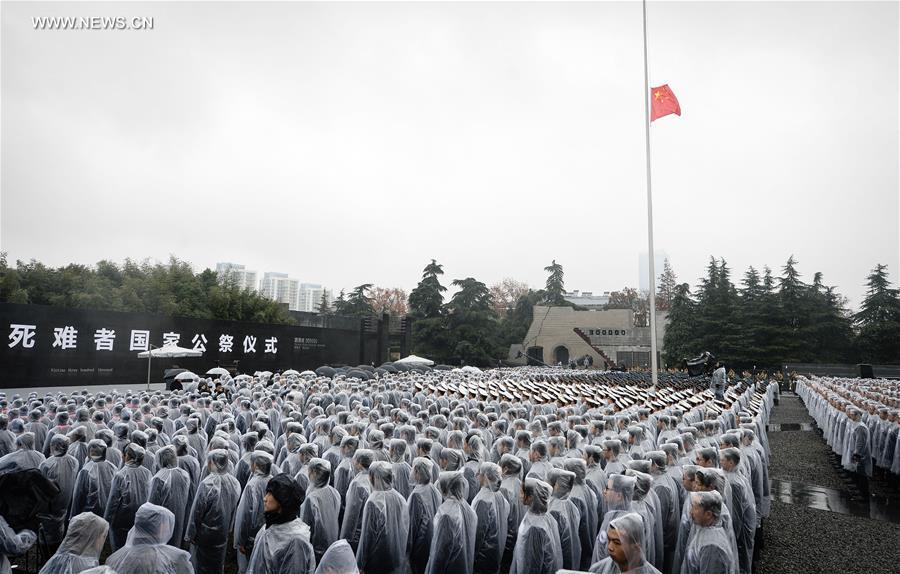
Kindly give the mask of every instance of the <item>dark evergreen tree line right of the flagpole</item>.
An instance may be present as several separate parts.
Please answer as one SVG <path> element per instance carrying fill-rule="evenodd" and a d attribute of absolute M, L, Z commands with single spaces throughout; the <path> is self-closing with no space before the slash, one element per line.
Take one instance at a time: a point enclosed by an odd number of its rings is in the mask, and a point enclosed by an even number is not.
<path fill-rule="evenodd" d="M 735 286 L 725 259 L 711 257 L 694 292 L 687 283 L 674 285 L 665 362 L 677 365 L 702 351 L 740 368 L 900 362 L 900 296 L 887 266 L 868 275 L 866 297 L 852 313 L 821 273 L 802 281 L 797 264 L 791 256 L 779 276 L 750 267 Z"/>

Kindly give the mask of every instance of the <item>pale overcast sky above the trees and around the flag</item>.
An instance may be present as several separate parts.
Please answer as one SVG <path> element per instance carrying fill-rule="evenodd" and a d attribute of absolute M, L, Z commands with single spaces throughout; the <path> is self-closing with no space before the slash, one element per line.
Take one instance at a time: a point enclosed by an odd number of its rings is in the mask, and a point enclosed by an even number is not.
<path fill-rule="evenodd" d="M 898 4 L 653 2 L 657 249 L 898 278 Z M 153 30 L 35 30 L 41 16 Z M 2 3 L 11 259 L 638 284 L 640 2 Z"/>

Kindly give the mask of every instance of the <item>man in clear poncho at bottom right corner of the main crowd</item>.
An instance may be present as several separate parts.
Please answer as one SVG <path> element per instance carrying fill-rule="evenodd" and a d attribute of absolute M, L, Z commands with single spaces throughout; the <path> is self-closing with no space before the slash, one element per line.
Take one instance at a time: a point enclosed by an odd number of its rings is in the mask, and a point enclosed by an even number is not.
<path fill-rule="evenodd" d="M 737 574 L 738 557 L 721 520 L 722 495 L 717 491 L 690 496 L 694 529 L 685 549 L 681 574 Z"/>

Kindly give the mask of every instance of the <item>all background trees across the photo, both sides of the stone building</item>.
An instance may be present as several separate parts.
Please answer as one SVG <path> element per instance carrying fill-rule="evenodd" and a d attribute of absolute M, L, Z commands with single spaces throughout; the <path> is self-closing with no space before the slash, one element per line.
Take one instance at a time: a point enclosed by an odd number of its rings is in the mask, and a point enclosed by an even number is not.
<path fill-rule="evenodd" d="M 473 277 L 449 284 L 445 298 L 443 266 L 423 269 L 407 297 L 402 289 L 364 283 L 341 291 L 329 306 L 323 295 L 320 312 L 365 318 L 372 314 L 407 314 L 412 321 L 413 352 L 437 362 L 496 365 L 510 345 L 525 339 L 536 305 L 572 306 L 566 300 L 564 271 L 555 260 L 544 268 L 543 289 L 513 279 L 488 287 Z M 205 269 L 171 257 L 166 263 L 126 260 L 117 265 L 70 264 L 51 268 L 37 261 L 7 263 L 0 254 L 0 301 L 110 311 L 156 313 L 198 319 L 290 324 L 283 305 L 221 282 Z M 887 267 L 877 265 L 867 277 L 860 310 L 851 313 L 846 299 L 824 283 L 821 273 L 802 281 L 797 261 L 788 259 L 775 276 L 768 267 L 750 267 L 735 286 L 723 258 L 710 258 L 706 276 L 694 291 L 665 262 L 658 280 L 656 305 L 668 311 L 662 341 L 667 365 L 710 351 L 735 367 L 775 368 L 788 362 L 900 362 L 900 291 Z M 646 293 L 625 287 L 610 294 L 607 309 L 631 309 L 634 326 L 646 326 Z"/>

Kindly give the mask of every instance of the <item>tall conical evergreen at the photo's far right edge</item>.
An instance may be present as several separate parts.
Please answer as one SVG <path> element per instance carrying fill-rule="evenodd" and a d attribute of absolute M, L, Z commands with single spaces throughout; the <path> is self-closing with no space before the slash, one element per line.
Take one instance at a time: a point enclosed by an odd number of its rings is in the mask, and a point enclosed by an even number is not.
<path fill-rule="evenodd" d="M 891 287 L 886 265 L 876 265 L 866 279 L 866 298 L 854 316 L 860 355 L 869 363 L 900 362 L 898 290 Z"/>

